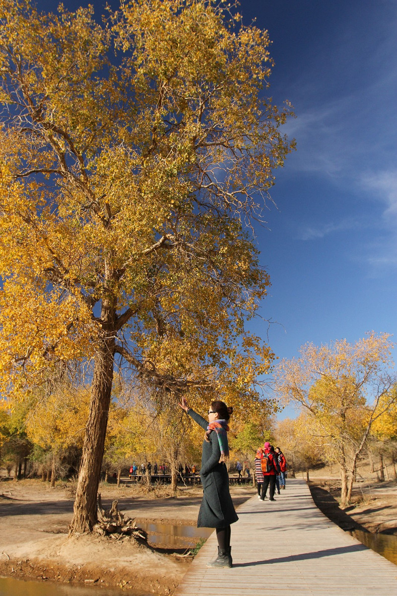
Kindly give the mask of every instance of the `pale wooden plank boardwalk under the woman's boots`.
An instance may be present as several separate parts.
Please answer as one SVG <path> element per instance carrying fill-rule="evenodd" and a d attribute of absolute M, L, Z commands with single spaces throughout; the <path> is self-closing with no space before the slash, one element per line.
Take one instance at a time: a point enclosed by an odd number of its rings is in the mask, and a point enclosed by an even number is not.
<path fill-rule="evenodd" d="M 324 516 L 303 480 L 276 502 L 253 496 L 232 525 L 232 569 L 208 569 L 215 532 L 175 596 L 397 596 L 397 566 Z"/>

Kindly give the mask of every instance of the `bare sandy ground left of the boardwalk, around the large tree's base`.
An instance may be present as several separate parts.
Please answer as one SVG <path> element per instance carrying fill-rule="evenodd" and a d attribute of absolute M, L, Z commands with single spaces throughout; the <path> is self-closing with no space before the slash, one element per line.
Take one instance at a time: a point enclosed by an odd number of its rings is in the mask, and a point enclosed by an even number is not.
<path fill-rule="evenodd" d="M 182 488 L 177 497 L 164 486 L 146 492 L 140 486 L 100 486 L 102 505 L 113 499 L 139 522 L 196 525 L 202 489 Z M 231 487 L 237 507 L 250 498 L 251 487 Z M 0 575 L 85 585 L 118 586 L 140 594 L 172 594 L 192 557 L 174 547 L 164 552 L 133 538 L 68 538 L 73 496 L 65 486 L 51 489 L 40 480 L 0 484 Z M 183 547 L 183 543 L 180 544 Z"/>

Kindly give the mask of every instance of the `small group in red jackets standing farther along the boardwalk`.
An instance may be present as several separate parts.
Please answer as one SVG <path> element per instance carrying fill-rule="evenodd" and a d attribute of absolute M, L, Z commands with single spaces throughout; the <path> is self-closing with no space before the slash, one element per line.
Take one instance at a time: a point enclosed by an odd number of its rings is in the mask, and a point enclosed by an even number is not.
<path fill-rule="evenodd" d="M 285 474 L 287 461 L 280 449 L 267 441 L 263 448 L 260 447 L 255 457 L 255 476 L 257 478 L 258 499 L 267 499 L 269 489 L 269 501 L 276 501 L 274 493 L 280 495 L 280 490 L 285 490 Z"/>

